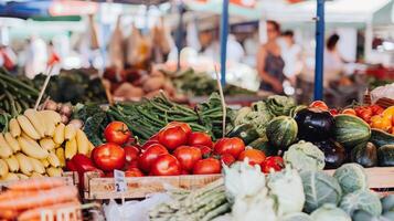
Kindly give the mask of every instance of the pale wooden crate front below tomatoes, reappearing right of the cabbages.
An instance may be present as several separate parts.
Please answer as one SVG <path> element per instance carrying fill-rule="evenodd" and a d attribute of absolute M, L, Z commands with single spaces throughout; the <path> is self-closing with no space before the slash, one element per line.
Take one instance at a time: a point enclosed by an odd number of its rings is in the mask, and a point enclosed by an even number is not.
<path fill-rule="evenodd" d="M 334 170 L 324 171 L 329 175 L 334 172 Z M 386 191 L 394 188 L 394 167 L 365 168 L 365 173 L 371 189 Z M 100 178 L 98 172 L 86 172 L 84 197 L 88 200 L 140 199 L 171 188 L 198 189 L 222 177 L 222 175 L 190 175 L 126 178 L 128 190 L 120 193 L 115 191 L 114 178 Z"/>

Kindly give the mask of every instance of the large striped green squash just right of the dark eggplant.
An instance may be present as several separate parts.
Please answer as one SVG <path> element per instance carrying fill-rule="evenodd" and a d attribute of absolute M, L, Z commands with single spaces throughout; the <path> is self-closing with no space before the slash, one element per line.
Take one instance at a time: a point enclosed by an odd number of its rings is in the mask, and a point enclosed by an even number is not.
<path fill-rule="evenodd" d="M 371 137 L 371 128 L 356 116 L 340 114 L 334 117 L 334 139 L 348 149 L 366 143 Z"/>

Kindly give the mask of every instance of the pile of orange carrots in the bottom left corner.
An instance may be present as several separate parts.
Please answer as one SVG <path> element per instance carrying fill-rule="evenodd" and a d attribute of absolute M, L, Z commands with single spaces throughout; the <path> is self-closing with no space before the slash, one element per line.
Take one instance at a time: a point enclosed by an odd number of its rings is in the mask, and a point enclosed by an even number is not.
<path fill-rule="evenodd" d="M 44 211 L 56 215 L 57 210 L 78 210 L 81 202 L 75 187 L 66 186 L 62 178 L 35 178 L 13 182 L 0 193 L 0 218 L 2 220 L 42 220 Z M 53 220 L 53 217 L 44 219 Z M 64 219 L 76 219 L 63 217 Z"/>

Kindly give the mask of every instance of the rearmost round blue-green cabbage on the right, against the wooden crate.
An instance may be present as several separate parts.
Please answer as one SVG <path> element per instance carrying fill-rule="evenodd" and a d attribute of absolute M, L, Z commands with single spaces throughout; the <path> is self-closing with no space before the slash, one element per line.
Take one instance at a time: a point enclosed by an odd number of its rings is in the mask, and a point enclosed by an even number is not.
<path fill-rule="evenodd" d="M 337 178 L 342 188 L 343 194 L 354 192 L 356 190 L 366 190 L 368 180 L 362 168 L 358 164 L 345 164 L 336 170 L 333 177 Z"/>

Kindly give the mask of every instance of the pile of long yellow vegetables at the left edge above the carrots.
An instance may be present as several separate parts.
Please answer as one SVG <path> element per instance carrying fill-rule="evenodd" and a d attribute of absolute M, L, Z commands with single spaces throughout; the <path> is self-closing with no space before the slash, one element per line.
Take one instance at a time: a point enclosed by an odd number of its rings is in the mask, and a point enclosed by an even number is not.
<path fill-rule="evenodd" d="M 74 124 L 64 125 L 54 110 L 26 109 L 0 133 L 1 180 L 60 177 L 65 159 L 89 155 L 94 146 Z"/>

